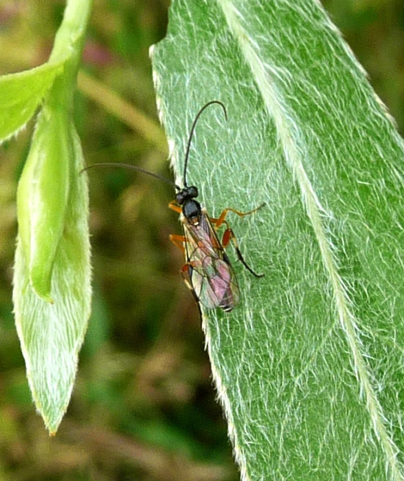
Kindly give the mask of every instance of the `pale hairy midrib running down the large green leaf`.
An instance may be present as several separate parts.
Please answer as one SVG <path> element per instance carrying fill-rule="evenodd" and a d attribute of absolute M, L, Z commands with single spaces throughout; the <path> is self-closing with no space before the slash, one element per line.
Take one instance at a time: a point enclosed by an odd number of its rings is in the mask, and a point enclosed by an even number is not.
<path fill-rule="evenodd" d="M 232 1 L 217 0 L 217 2 L 223 11 L 234 41 L 238 43 L 241 55 L 243 55 L 245 63 L 249 66 L 252 77 L 261 92 L 267 112 L 274 120 L 276 132 L 285 155 L 285 161 L 292 172 L 293 179 L 301 191 L 303 207 L 307 213 L 307 217 L 310 219 L 314 235 L 320 248 L 325 272 L 332 286 L 336 315 L 339 317 L 347 343 L 350 346 L 354 373 L 360 384 L 360 393 L 365 393 L 366 408 L 369 412 L 376 437 L 385 453 L 386 462 L 390 467 L 393 479 L 395 481 L 403 481 L 404 474 L 401 471 L 401 464 L 396 458 L 398 449 L 387 433 L 385 422 L 383 422 L 383 419 L 386 419 L 386 417 L 383 414 L 383 409 L 376 393 L 372 388 L 370 373 L 367 371 L 367 366 L 361 353 L 361 341 L 358 338 L 358 328 L 354 315 L 349 308 L 349 297 L 343 288 L 343 282 L 336 268 L 330 242 L 327 241 L 325 229 L 321 222 L 321 211 L 325 213 L 325 209 L 321 206 L 314 192 L 314 188 L 310 183 L 310 179 L 304 170 L 301 156 L 299 155 L 299 148 L 295 141 L 297 135 L 294 135 L 294 129 L 290 125 L 290 121 L 288 121 L 288 119 L 292 119 L 292 115 L 290 115 L 290 112 L 288 112 L 287 118 L 284 115 L 283 112 L 287 110 L 285 109 L 286 101 L 283 101 L 281 92 L 276 89 L 276 85 L 270 83 L 270 75 L 268 75 L 270 65 L 265 63 L 265 69 L 259 55 L 254 51 L 254 42 L 250 42 L 248 32 L 245 31 L 239 22 L 239 17 L 241 17 L 240 12 L 236 10 Z M 300 144 L 303 143 L 300 141 Z"/>

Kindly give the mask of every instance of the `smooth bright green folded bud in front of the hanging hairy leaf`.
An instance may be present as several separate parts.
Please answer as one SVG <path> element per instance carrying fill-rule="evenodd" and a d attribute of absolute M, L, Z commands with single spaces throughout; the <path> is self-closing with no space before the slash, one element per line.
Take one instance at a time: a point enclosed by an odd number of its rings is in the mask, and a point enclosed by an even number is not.
<path fill-rule="evenodd" d="M 19 233 L 30 283 L 52 302 L 50 285 L 59 240 L 65 228 L 74 153 L 65 111 L 44 106 L 17 193 Z"/>

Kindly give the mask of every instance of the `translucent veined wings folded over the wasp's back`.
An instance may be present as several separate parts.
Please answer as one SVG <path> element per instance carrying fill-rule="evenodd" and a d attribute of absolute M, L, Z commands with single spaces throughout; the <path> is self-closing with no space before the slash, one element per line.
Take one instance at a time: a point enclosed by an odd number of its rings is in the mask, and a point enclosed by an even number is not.
<path fill-rule="evenodd" d="M 203 306 L 232 311 L 239 302 L 236 275 L 208 215 L 198 225 L 183 222 L 188 274 L 196 297 Z"/>

